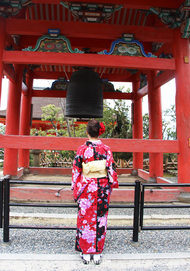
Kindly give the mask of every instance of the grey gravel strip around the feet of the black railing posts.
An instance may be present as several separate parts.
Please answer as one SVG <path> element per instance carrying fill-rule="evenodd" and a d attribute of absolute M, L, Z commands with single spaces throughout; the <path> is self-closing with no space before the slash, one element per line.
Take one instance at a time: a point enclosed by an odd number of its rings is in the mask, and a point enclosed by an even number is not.
<path fill-rule="evenodd" d="M 173 224 L 162 224 L 166 225 Z M 131 230 L 108 230 L 104 252 L 114 254 L 190 252 L 189 233 L 189 230 L 142 231 L 139 235 L 140 247 L 134 248 L 130 245 Z M 1 253 L 78 253 L 74 250 L 75 234 L 75 230 L 10 229 L 12 243 L 8 247 L 2 247 Z M 0 235 L 3 235 L 2 229 Z"/>

